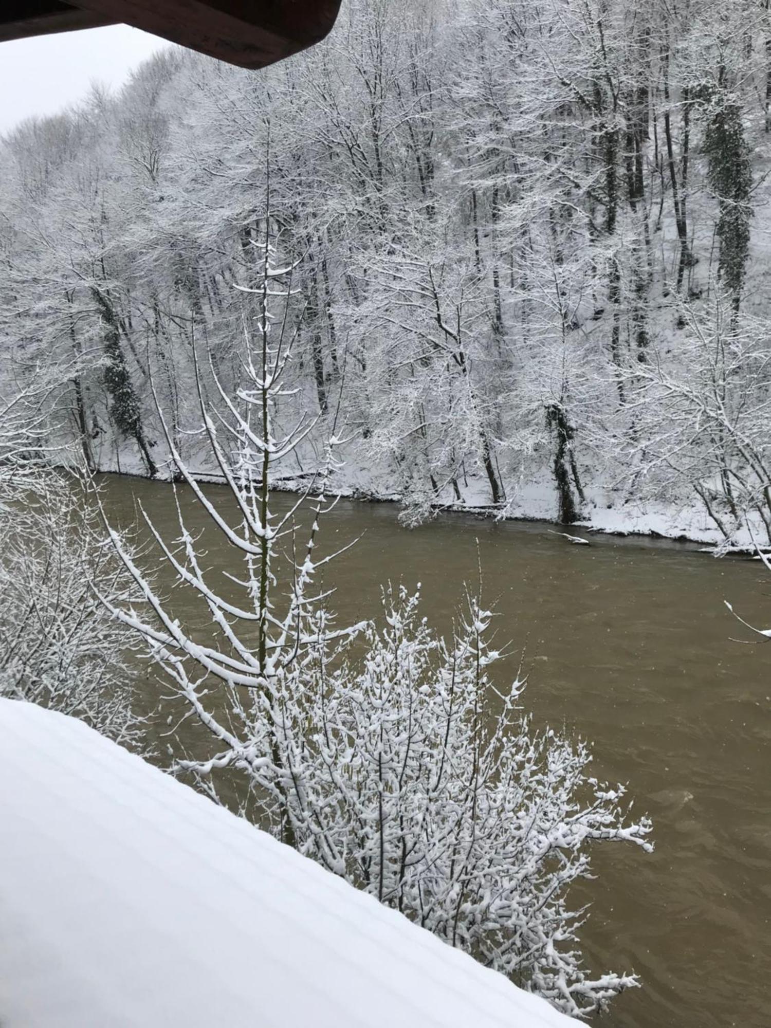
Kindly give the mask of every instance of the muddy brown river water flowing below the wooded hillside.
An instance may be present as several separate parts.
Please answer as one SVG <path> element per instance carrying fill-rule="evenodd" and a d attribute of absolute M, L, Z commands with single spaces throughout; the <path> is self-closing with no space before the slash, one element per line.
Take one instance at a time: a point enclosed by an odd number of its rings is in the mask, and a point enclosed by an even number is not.
<path fill-rule="evenodd" d="M 169 485 L 111 477 L 105 488 L 116 525 L 134 521 L 140 499 L 167 539 L 178 535 Z M 189 526 L 204 529 L 201 508 L 180 497 Z M 771 576 L 687 544 L 591 536 L 575 546 L 552 525 L 463 515 L 408 529 L 397 515 L 343 501 L 323 522 L 322 549 L 362 537 L 326 574 L 340 620 L 374 616 L 390 579 L 423 583 L 424 614 L 445 628 L 479 556 L 499 631 L 524 649 L 537 722 L 590 740 L 593 773 L 628 782 L 654 820 L 656 852 L 597 847 L 597 879 L 581 896 L 593 901 L 582 934 L 590 966 L 642 983 L 604 1023 L 771 1026 L 771 642 L 747 645 L 723 602 L 771 625 Z M 237 574 L 219 534 L 205 539 L 209 564 Z M 181 591 L 175 613 L 201 617 Z M 160 690 L 150 675 L 146 688 Z"/>

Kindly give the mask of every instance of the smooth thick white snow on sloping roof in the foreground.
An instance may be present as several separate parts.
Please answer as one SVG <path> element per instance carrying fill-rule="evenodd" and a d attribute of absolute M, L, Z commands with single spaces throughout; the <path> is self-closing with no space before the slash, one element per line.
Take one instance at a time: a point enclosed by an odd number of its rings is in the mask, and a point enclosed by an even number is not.
<path fill-rule="evenodd" d="M 0 699 L 2 1028 L 558 1028 L 85 725 Z"/>

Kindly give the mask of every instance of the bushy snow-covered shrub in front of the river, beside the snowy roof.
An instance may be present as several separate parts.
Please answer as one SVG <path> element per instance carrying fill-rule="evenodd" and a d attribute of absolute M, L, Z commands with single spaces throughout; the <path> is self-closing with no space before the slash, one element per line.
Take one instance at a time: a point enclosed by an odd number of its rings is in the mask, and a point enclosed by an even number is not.
<path fill-rule="evenodd" d="M 586 1016 L 637 983 L 583 966 L 570 886 L 588 876 L 592 842 L 650 848 L 650 824 L 624 821 L 624 790 L 588 777 L 583 743 L 533 728 L 517 704 L 522 682 L 497 689 L 490 623 L 470 599 L 447 641 L 416 594 L 389 589 L 381 623 L 330 660 L 320 617 L 320 641 L 280 686 L 271 734 L 283 770 L 252 774 L 258 792 L 284 778 L 302 852 Z"/>

